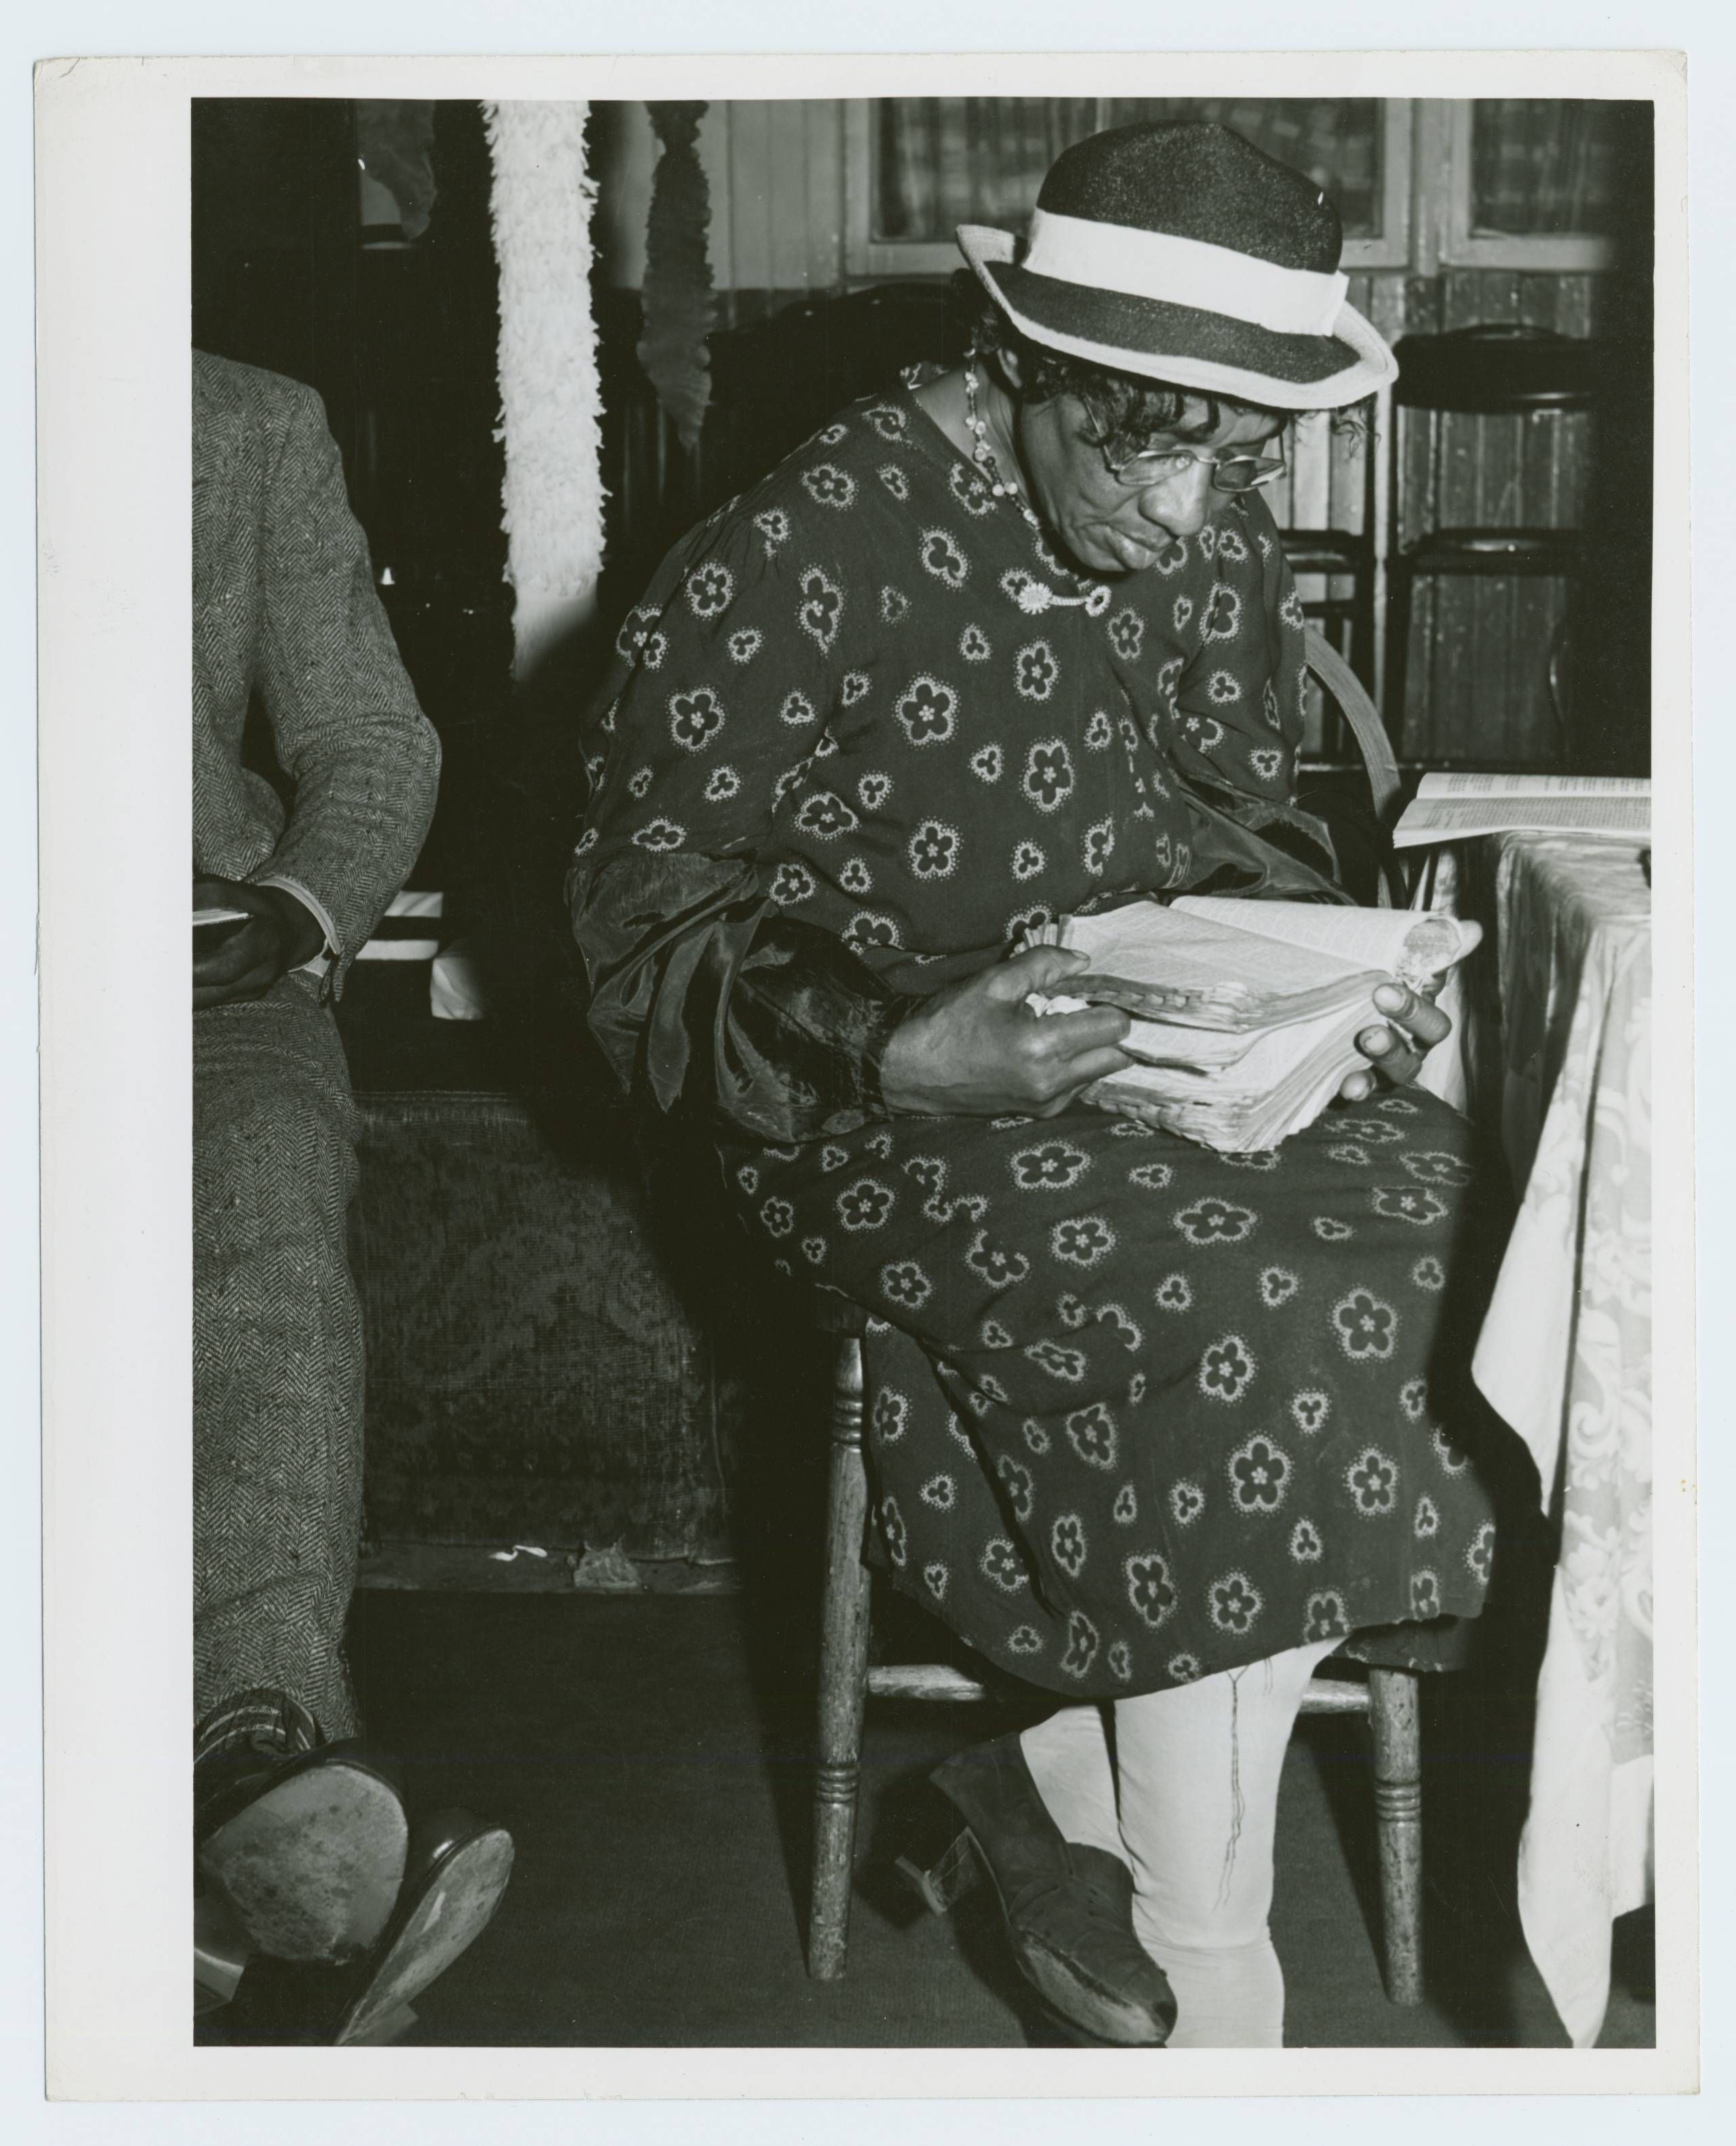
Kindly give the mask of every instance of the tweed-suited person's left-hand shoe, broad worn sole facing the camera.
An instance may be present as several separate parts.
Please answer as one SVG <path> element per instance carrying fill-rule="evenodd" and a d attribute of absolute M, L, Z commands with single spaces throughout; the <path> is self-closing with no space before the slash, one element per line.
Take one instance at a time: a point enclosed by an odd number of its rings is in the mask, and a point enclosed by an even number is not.
<path fill-rule="evenodd" d="M 369 1953 L 399 1897 L 410 1826 L 358 1745 L 223 1755 L 200 1768 L 195 1858 L 273 1959 Z"/>

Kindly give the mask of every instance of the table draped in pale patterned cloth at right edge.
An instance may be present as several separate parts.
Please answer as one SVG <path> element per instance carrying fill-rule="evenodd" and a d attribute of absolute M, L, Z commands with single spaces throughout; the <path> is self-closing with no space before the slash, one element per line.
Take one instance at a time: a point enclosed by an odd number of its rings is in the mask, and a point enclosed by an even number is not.
<path fill-rule="evenodd" d="M 1472 1039 L 1472 1109 L 1500 1109 L 1519 1197 L 1472 1376 L 1530 1446 L 1562 1530 L 1519 1914 L 1575 2047 L 1603 2024 L 1609 1923 L 1652 1897 L 1652 938 L 1639 850 L 1494 835 L 1457 858 L 1457 906 L 1494 927 L 1498 976 L 1496 1034 L 1481 1049 Z"/>

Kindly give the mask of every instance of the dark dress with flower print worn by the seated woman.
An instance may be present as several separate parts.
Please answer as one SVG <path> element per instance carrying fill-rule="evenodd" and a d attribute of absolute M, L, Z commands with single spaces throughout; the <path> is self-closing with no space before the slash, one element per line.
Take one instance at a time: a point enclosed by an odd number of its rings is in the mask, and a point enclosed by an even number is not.
<path fill-rule="evenodd" d="M 1455 1442 L 1472 1163 L 1442 1103 L 1386 1092 L 1223 1157 L 1090 1107 L 878 1097 L 912 996 L 1032 923 L 1303 891 L 1303 676 L 1257 496 L 1073 579 L 891 395 L 670 556 L 590 719 L 592 1026 L 710 1118 L 777 1266 L 871 1315 L 895 1584 L 1075 1697 L 1474 1616 L 1489 1582 Z"/>

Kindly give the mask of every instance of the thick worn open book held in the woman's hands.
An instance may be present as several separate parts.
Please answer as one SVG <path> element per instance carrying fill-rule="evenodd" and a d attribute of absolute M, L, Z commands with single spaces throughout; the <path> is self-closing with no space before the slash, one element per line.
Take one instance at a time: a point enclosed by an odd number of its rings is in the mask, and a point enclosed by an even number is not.
<path fill-rule="evenodd" d="M 1380 1019 L 1378 983 L 1429 985 L 1483 938 L 1436 910 L 1348 910 L 1313 901 L 1185 895 L 1069 916 L 1036 936 L 1090 955 L 1039 1013 L 1120 1006 L 1139 1064 L 1086 1090 L 1101 1109 L 1146 1118 L 1204 1148 L 1249 1155 L 1311 1125 Z"/>

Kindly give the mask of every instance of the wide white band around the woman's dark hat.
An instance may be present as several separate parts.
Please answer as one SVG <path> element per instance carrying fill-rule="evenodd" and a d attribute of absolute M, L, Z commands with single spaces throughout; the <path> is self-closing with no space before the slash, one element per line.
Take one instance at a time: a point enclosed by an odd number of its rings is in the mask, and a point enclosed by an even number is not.
<path fill-rule="evenodd" d="M 1019 266 L 1051 283 L 1227 313 L 1275 335 L 1330 335 L 1350 290 L 1343 273 L 1279 268 L 1204 238 L 1092 223 L 1043 208 L 1032 210 L 1030 245 Z"/>

